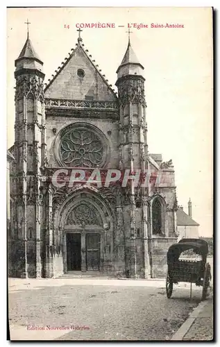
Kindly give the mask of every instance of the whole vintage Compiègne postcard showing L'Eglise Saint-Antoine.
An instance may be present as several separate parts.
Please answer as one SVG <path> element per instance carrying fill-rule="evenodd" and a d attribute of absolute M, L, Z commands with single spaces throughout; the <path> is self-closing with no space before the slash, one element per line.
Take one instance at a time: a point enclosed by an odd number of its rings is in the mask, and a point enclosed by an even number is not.
<path fill-rule="evenodd" d="M 8 8 L 7 62 L 8 339 L 212 340 L 212 8 Z"/>

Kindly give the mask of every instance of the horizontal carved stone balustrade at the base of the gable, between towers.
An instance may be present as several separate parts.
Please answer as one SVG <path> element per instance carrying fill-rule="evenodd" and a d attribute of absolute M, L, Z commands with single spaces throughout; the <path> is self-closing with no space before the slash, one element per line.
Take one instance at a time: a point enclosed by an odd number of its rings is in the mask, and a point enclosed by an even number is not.
<path fill-rule="evenodd" d="M 46 107 L 50 108 L 93 108 L 104 110 L 117 110 L 119 105 L 115 101 L 88 101 L 88 100 L 60 100 L 45 99 Z"/>

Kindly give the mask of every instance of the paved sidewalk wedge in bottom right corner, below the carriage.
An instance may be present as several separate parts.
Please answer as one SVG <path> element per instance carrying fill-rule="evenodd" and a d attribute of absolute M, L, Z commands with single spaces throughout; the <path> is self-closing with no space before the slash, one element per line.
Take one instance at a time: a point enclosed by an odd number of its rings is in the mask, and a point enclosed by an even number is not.
<path fill-rule="evenodd" d="M 212 341 L 213 339 L 213 298 L 202 301 L 171 340 Z"/>

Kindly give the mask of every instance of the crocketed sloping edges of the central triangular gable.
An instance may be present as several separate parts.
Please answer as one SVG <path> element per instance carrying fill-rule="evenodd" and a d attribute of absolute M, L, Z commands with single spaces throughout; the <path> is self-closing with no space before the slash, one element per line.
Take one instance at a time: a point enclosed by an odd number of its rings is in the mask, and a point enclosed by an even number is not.
<path fill-rule="evenodd" d="M 80 39 L 81 39 L 81 37 L 80 37 Z M 115 92 L 115 90 L 112 89 L 112 85 L 110 85 L 108 83 L 108 79 L 105 78 L 105 75 L 101 74 L 101 69 L 99 69 L 99 65 L 94 64 L 95 60 L 92 60 L 92 56 L 88 55 L 88 50 L 84 49 L 84 44 L 82 44 L 81 42 L 82 42 L 82 39 L 78 40 L 78 44 L 76 44 L 76 49 L 71 49 L 72 52 L 69 53 L 69 57 L 65 58 L 65 62 L 62 62 L 61 66 L 59 66 L 58 69 L 55 71 L 56 74 L 52 75 L 51 80 L 49 79 L 49 83 L 46 85 L 44 92 L 46 92 L 46 90 L 49 90 L 49 87 L 53 84 L 54 81 L 56 81 L 56 79 L 58 78 L 60 73 L 65 69 L 65 67 L 67 67 L 67 65 L 71 61 L 71 59 L 74 56 L 76 56 L 77 53 L 83 52 L 86 59 L 89 60 L 90 64 L 92 65 L 92 67 L 94 68 L 94 70 L 96 71 L 98 76 L 101 78 L 103 83 L 106 85 L 106 87 L 108 88 L 110 93 L 114 94 L 115 99 L 117 99 L 117 93 Z"/>

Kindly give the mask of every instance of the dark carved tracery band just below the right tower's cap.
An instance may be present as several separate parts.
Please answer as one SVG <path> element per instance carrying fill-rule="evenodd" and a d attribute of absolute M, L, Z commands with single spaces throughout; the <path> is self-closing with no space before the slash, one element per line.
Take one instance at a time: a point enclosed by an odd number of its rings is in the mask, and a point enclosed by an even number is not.
<path fill-rule="evenodd" d="M 146 107 L 144 96 L 144 81 L 141 79 L 130 79 L 129 81 L 122 81 L 118 87 L 119 90 L 119 103 L 123 107 L 128 103 L 139 103 Z"/>

